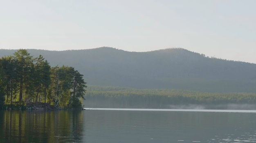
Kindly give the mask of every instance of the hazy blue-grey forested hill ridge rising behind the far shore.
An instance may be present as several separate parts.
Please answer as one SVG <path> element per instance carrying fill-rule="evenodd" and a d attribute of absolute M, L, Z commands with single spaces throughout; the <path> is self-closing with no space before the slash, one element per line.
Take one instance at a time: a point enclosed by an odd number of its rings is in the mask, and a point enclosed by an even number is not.
<path fill-rule="evenodd" d="M 0 56 L 16 50 L 0 50 Z M 28 50 L 51 66 L 68 65 L 88 85 L 206 92 L 256 92 L 256 64 L 205 57 L 182 48 L 127 52 L 102 47 L 88 50 Z"/>

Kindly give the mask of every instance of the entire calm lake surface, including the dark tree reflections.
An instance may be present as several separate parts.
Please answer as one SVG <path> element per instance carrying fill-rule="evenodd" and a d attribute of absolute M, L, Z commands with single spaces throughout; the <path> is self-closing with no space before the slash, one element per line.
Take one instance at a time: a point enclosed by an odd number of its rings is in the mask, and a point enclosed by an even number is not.
<path fill-rule="evenodd" d="M 0 143 L 250 143 L 256 111 L 0 111 Z"/>

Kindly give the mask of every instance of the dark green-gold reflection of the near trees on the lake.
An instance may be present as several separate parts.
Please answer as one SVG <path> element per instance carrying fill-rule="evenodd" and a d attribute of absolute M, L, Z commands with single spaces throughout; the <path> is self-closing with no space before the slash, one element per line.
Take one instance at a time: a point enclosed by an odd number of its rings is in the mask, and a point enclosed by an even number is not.
<path fill-rule="evenodd" d="M 0 111 L 0 143 L 82 142 L 81 112 Z"/>

